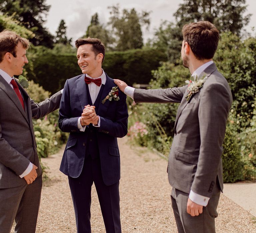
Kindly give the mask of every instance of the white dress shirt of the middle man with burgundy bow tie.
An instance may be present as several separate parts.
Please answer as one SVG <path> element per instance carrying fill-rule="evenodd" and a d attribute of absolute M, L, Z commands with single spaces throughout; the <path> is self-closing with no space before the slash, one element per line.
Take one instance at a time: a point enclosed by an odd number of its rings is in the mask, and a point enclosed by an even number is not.
<path fill-rule="evenodd" d="M 103 69 L 102 70 L 102 75 L 98 78 L 92 78 L 90 77 L 89 75 L 86 74 L 86 77 L 90 78 L 90 79 L 99 79 L 101 78 L 101 85 L 105 85 L 106 84 L 106 74 L 104 72 Z M 98 97 L 98 94 L 100 92 L 100 89 L 101 89 L 101 85 L 100 86 L 97 86 L 95 83 L 91 82 L 88 84 L 88 89 L 89 89 L 89 93 L 90 93 L 90 97 L 91 97 L 91 100 L 92 100 L 92 104 L 94 104 L 94 102 L 96 101 L 97 97 Z M 78 118 L 77 120 L 77 127 L 79 128 L 80 131 L 85 131 L 85 128 L 86 128 L 86 125 L 82 126 L 81 125 L 81 116 Z M 95 125 L 93 124 L 93 126 L 95 127 L 100 127 L 100 117 L 99 117 L 99 121 L 98 121 L 98 125 Z"/>

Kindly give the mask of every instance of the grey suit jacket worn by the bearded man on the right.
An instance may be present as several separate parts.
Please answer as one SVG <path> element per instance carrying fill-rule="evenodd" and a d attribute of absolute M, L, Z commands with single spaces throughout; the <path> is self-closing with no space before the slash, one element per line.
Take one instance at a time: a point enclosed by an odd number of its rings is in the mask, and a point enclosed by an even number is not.
<path fill-rule="evenodd" d="M 168 161 L 171 186 L 211 197 L 223 189 L 222 144 L 232 104 L 227 80 L 215 64 L 200 75 L 208 79 L 189 101 L 187 87 L 134 91 L 136 103 L 180 103 Z"/>

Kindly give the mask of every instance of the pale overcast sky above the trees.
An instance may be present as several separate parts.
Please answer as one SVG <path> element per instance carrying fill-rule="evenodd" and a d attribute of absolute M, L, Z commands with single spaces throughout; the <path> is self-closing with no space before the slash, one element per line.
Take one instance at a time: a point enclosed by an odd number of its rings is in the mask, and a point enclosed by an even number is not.
<path fill-rule="evenodd" d="M 174 22 L 173 13 L 176 12 L 179 4 L 183 3 L 183 0 L 46 0 L 46 4 L 51 8 L 45 26 L 55 36 L 61 19 L 64 19 L 67 26 L 67 37 L 72 37 L 72 41 L 75 41 L 85 34 L 91 17 L 96 12 L 99 15 L 100 23 L 106 25 L 109 21 L 107 7 L 118 3 L 121 10 L 135 8 L 137 12 L 151 11 L 149 31 L 143 29 L 143 38 L 146 41 L 153 37 L 154 29 L 160 26 L 162 20 Z M 251 32 L 252 27 L 255 27 L 256 30 L 256 0 L 246 0 L 246 4 L 248 5 L 246 14 L 253 14 L 246 27 L 246 30 Z M 256 31 L 254 31 L 255 34 Z"/>

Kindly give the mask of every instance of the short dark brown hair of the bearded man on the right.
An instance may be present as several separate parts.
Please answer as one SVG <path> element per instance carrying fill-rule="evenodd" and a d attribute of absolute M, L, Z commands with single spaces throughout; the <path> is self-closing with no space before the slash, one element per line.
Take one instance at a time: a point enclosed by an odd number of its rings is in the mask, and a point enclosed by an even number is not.
<path fill-rule="evenodd" d="M 212 23 L 199 21 L 186 24 L 182 35 L 198 60 L 213 58 L 219 43 L 219 31 Z"/>

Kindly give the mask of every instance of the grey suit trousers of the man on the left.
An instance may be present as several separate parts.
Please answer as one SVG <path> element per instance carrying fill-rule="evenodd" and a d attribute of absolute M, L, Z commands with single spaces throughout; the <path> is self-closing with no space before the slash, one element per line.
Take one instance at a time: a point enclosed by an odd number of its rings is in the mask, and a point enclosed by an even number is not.
<path fill-rule="evenodd" d="M 15 219 L 15 233 L 35 233 L 42 190 L 42 175 L 32 184 L 0 188 L 0 232 L 9 233 Z"/>

